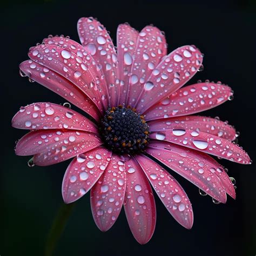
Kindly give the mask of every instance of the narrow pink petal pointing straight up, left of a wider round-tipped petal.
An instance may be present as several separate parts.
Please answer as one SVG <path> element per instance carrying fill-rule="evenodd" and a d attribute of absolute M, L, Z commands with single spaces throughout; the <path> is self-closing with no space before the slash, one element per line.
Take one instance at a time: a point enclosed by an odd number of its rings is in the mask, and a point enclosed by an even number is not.
<path fill-rule="evenodd" d="M 135 50 L 138 31 L 128 24 L 120 24 L 117 28 L 117 59 L 119 68 L 119 100 L 118 104 L 126 105 L 126 94 L 132 68 L 132 56 Z"/>

